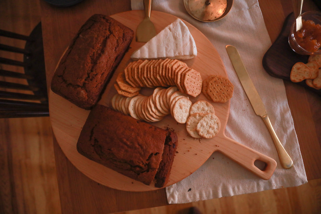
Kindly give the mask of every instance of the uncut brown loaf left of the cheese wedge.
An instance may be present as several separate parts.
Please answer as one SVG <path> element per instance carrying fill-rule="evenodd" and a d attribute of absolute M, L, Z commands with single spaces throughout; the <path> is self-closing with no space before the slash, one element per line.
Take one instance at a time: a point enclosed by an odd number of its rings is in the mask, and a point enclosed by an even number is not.
<path fill-rule="evenodd" d="M 51 90 L 80 108 L 90 109 L 116 69 L 134 31 L 95 14 L 80 28 L 55 71 Z"/>

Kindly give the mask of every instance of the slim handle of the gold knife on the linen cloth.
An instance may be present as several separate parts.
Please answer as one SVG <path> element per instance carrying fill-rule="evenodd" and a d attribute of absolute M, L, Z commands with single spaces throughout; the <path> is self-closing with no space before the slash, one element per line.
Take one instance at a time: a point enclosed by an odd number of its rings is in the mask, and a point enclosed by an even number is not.
<path fill-rule="evenodd" d="M 284 147 L 282 146 L 278 136 L 276 136 L 275 131 L 272 127 L 272 124 L 270 122 L 269 117 L 267 116 L 267 114 L 265 114 L 264 116 L 262 116 L 263 121 L 265 122 L 265 125 L 267 126 L 267 128 L 270 131 L 270 134 L 273 138 L 275 147 L 278 151 L 279 157 L 280 157 L 280 161 L 281 161 L 281 165 L 283 168 L 285 169 L 289 169 L 292 167 L 293 165 L 293 161 L 291 159 L 291 157 L 288 155 L 288 153 L 285 151 Z"/>

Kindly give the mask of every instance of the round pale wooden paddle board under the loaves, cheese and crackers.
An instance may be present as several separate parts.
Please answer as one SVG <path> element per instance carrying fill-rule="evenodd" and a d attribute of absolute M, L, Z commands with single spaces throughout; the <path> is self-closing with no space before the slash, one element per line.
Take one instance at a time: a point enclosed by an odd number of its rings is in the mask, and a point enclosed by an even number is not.
<path fill-rule="evenodd" d="M 143 19 L 143 12 L 127 11 L 112 15 L 111 17 L 135 31 L 137 25 Z M 160 32 L 164 27 L 176 19 L 177 17 L 175 16 L 158 11 L 153 11 L 151 17 L 157 32 Z M 186 62 L 189 67 L 199 71 L 203 79 L 208 75 L 213 74 L 227 77 L 220 55 L 211 42 L 194 26 L 187 22 L 185 23 L 195 39 L 198 53 L 197 57 L 184 60 L 184 62 Z M 111 97 L 117 93 L 113 87 L 117 74 L 123 71 L 126 65 L 131 61 L 130 56 L 134 50 L 138 49 L 143 44 L 144 43 L 136 42 L 135 39 L 132 41 L 129 51 L 117 67 L 115 74 L 110 80 L 110 84 L 106 87 L 106 90 L 99 102 L 100 104 L 110 106 Z M 143 93 L 147 95 L 150 91 L 145 90 Z M 197 98 L 191 98 L 193 103 L 196 100 L 204 99 L 206 98 L 203 94 L 200 94 Z M 224 129 L 228 120 L 230 102 L 212 104 L 215 109 L 215 114 L 221 121 L 221 130 L 213 139 L 198 140 L 188 137 L 185 124 L 177 124 L 177 122 L 170 116 L 167 116 L 160 122 L 153 123 L 153 125 L 160 128 L 172 128 L 178 134 L 178 153 L 176 153 L 169 182 L 166 186 L 176 183 L 192 174 L 214 151 L 217 150 L 226 156 L 229 156 L 232 160 L 238 162 L 240 165 L 249 169 L 261 178 L 269 179 L 276 167 L 275 161 L 272 158 L 227 138 L 224 134 Z M 150 186 L 147 186 L 143 183 L 137 182 L 124 175 L 118 174 L 103 165 L 95 163 L 77 152 L 76 143 L 89 111 L 78 108 L 64 98 L 54 94 L 52 91 L 49 93 L 49 110 L 53 131 L 59 146 L 62 148 L 63 152 L 72 164 L 74 164 L 82 173 L 98 183 L 119 190 L 149 191 L 157 189 L 153 186 L 153 183 Z M 265 171 L 261 171 L 254 166 L 253 163 L 257 159 L 268 164 Z"/>

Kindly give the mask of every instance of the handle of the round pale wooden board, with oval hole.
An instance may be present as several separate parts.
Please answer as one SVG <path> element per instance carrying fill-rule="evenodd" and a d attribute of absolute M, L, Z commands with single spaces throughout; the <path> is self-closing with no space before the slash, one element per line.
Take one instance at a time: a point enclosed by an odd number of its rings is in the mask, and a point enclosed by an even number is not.
<path fill-rule="evenodd" d="M 273 158 L 244 146 L 231 138 L 226 137 L 221 139 L 223 141 L 220 141 L 219 145 L 215 145 L 216 151 L 221 152 L 264 180 L 271 178 L 277 165 Z M 254 165 L 256 160 L 265 163 L 263 170 Z"/>

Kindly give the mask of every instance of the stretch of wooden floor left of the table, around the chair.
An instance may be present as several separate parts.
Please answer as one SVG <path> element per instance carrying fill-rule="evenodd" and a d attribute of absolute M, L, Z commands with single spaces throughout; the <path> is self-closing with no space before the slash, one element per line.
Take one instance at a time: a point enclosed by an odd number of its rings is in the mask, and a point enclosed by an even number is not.
<path fill-rule="evenodd" d="M 0 29 L 29 35 L 40 22 L 39 0 L 0 1 L 0 20 Z M 25 44 L 5 37 L 0 42 Z M 23 60 L 21 54 L 5 51 L 0 57 Z M 49 117 L 0 119 L 0 163 L 0 213 L 61 213 Z"/>

